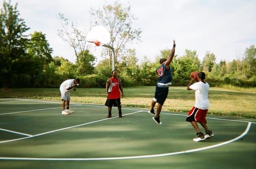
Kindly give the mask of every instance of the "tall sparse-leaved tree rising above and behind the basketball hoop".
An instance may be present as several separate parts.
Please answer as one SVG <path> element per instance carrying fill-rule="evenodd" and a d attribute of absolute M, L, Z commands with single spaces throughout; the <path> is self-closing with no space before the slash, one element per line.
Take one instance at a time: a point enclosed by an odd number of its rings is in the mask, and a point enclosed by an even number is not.
<path fill-rule="evenodd" d="M 100 9 L 91 10 L 91 15 L 95 17 L 96 25 L 103 25 L 108 28 L 111 35 L 109 45 L 114 48 L 115 60 L 121 56 L 128 43 L 140 41 L 141 30 L 133 28 L 132 23 L 137 20 L 131 14 L 131 7 L 124 7 L 116 1 L 113 5 L 105 5 Z M 105 48 L 103 55 L 109 55 L 109 65 L 112 58 L 111 49 Z"/>

